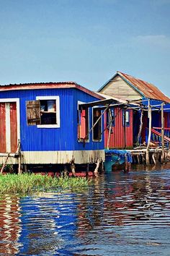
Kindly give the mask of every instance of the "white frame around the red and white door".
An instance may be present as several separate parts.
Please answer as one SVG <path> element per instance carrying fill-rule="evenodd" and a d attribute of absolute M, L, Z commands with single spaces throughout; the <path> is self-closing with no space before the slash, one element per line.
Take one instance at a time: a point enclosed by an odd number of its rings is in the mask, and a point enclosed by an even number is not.
<path fill-rule="evenodd" d="M 19 108 L 19 98 L 0 98 L 0 103 L 16 103 L 17 108 L 17 140 L 20 140 L 20 108 Z M 4 155 L 5 153 L 0 153 Z"/>

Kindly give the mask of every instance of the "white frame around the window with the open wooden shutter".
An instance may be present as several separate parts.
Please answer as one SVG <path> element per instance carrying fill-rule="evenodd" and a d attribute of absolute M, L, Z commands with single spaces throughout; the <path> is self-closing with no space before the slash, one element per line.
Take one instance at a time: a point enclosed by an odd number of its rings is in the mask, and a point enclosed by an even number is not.
<path fill-rule="evenodd" d="M 60 128 L 61 115 L 60 115 L 60 97 L 59 96 L 37 96 L 37 101 L 54 100 L 56 102 L 56 121 L 57 124 L 37 124 L 37 128 Z"/>

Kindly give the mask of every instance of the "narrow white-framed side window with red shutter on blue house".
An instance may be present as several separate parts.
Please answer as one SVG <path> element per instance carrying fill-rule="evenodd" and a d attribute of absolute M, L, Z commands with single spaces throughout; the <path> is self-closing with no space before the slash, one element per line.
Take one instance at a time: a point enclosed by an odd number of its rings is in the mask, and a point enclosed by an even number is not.
<path fill-rule="evenodd" d="M 89 109 L 78 110 L 78 140 L 89 140 Z M 86 136 L 87 135 L 87 136 Z"/>

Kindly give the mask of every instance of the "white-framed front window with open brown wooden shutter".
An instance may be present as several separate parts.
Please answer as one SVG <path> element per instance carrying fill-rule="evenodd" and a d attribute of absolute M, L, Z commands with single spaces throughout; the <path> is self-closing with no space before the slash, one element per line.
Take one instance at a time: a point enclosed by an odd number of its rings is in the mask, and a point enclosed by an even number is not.
<path fill-rule="evenodd" d="M 36 100 L 27 101 L 27 124 L 38 128 L 60 127 L 59 96 L 41 96 Z"/>

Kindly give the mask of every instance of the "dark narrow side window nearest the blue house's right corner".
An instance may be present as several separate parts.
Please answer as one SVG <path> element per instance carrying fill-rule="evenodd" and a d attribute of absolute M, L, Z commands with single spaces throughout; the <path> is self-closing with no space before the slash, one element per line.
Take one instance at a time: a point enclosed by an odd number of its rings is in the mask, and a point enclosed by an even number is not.
<path fill-rule="evenodd" d="M 101 110 L 93 108 L 93 122 L 92 125 L 96 123 L 96 121 L 101 116 Z M 102 140 L 102 118 L 97 121 L 97 124 L 93 128 L 93 140 L 101 141 Z"/>

